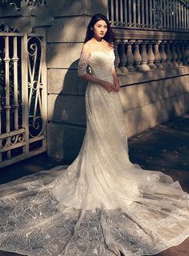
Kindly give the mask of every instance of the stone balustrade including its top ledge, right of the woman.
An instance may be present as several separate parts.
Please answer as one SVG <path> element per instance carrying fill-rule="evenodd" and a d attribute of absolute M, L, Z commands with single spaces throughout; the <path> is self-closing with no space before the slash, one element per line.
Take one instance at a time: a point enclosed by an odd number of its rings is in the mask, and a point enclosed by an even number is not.
<path fill-rule="evenodd" d="M 189 36 L 186 33 L 113 31 L 116 36 L 115 67 L 118 74 L 189 64 Z"/>

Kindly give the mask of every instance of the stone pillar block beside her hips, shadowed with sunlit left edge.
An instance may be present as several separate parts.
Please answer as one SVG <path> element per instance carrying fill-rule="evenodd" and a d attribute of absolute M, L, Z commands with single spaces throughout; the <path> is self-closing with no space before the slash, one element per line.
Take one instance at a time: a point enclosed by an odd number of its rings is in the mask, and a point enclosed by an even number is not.
<path fill-rule="evenodd" d="M 48 120 L 52 122 L 85 125 L 84 97 L 50 94 L 48 96 Z"/>

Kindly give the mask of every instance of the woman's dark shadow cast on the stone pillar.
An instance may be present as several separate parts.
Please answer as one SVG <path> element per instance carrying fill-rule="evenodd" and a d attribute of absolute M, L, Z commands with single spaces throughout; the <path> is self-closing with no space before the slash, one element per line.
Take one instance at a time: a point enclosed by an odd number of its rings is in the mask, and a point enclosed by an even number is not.
<path fill-rule="evenodd" d="M 74 67 L 76 67 L 78 61 L 76 60 L 71 64 L 64 76 L 63 89 L 55 98 L 51 120 L 62 126 L 63 130 L 57 136 L 61 140 L 59 143 L 60 151 L 63 152 L 64 161 L 67 163 L 76 159 L 86 127 L 84 94 L 87 81 L 81 80 L 76 74 L 76 68 Z M 59 147 L 57 147 L 58 149 Z"/>

